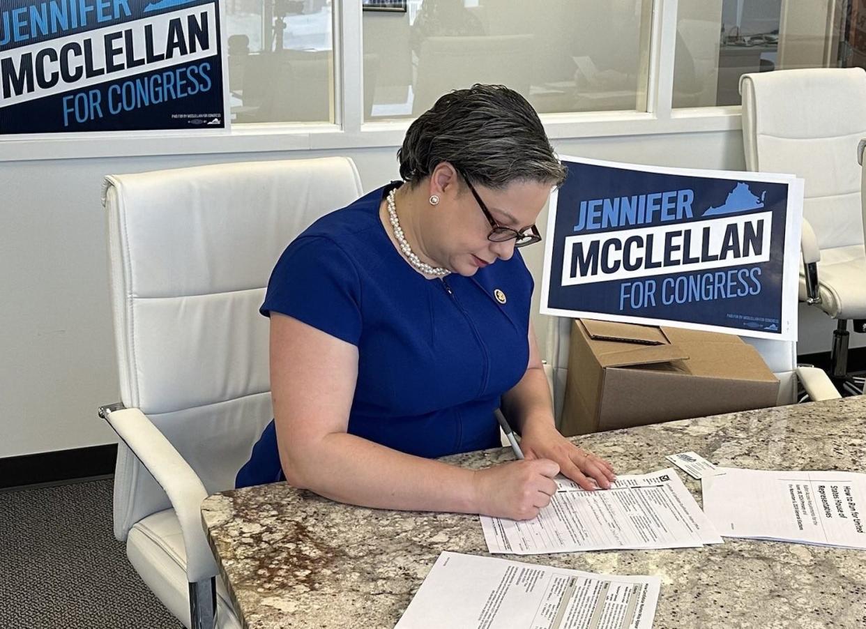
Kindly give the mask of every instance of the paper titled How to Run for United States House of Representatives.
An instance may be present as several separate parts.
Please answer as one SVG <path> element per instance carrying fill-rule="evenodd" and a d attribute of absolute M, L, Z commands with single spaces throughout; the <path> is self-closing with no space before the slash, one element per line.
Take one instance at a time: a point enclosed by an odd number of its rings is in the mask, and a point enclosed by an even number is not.
<path fill-rule="evenodd" d="M 721 535 L 866 549 L 866 474 L 719 470 L 701 489 Z"/>

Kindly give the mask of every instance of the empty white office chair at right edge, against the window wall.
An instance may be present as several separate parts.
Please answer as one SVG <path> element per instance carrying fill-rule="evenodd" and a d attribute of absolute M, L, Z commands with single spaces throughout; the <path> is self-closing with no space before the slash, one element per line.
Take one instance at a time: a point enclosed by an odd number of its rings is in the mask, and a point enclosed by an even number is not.
<path fill-rule="evenodd" d="M 836 319 L 830 377 L 859 394 L 848 370 L 848 321 L 866 332 L 866 251 L 856 147 L 866 135 L 866 72 L 813 68 L 743 75 L 743 145 L 750 171 L 805 179 L 800 301 Z"/>

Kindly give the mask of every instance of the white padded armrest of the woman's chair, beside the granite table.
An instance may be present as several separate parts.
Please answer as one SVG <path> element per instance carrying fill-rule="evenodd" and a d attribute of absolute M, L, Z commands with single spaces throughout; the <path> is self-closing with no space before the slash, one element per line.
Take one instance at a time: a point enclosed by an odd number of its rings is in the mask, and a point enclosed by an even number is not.
<path fill-rule="evenodd" d="M 105 412 L 104 417 L 168 495 L 184 535 L 187 580 L 215 576 L 216 561 L 202 525 L 201 505 L 208 493 L 201 479 L 139 409 Z"/>

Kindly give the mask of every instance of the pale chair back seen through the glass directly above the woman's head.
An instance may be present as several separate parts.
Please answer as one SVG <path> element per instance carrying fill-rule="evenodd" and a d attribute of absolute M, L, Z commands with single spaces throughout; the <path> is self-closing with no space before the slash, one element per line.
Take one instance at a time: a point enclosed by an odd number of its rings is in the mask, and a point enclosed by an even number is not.
<path fill-rule="evenodd" d="M 475 83 L 505 85 L 529 98 L 532 47 L 531 35 L 428 37 L 418 55 L 412 112 Z"/>

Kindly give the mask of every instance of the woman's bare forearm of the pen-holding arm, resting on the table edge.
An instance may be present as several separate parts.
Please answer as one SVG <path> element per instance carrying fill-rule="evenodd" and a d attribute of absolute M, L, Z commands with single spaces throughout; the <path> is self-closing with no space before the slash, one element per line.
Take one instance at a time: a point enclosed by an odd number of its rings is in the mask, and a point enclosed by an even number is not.
<path fill-rule="evenodd" d="M 289 449 L 290 450 L 290 449 Z M 345 432 L 281 457 L 288 483 L 378 509 L 479 513 L 475 472 L 391 450 Z"/>

